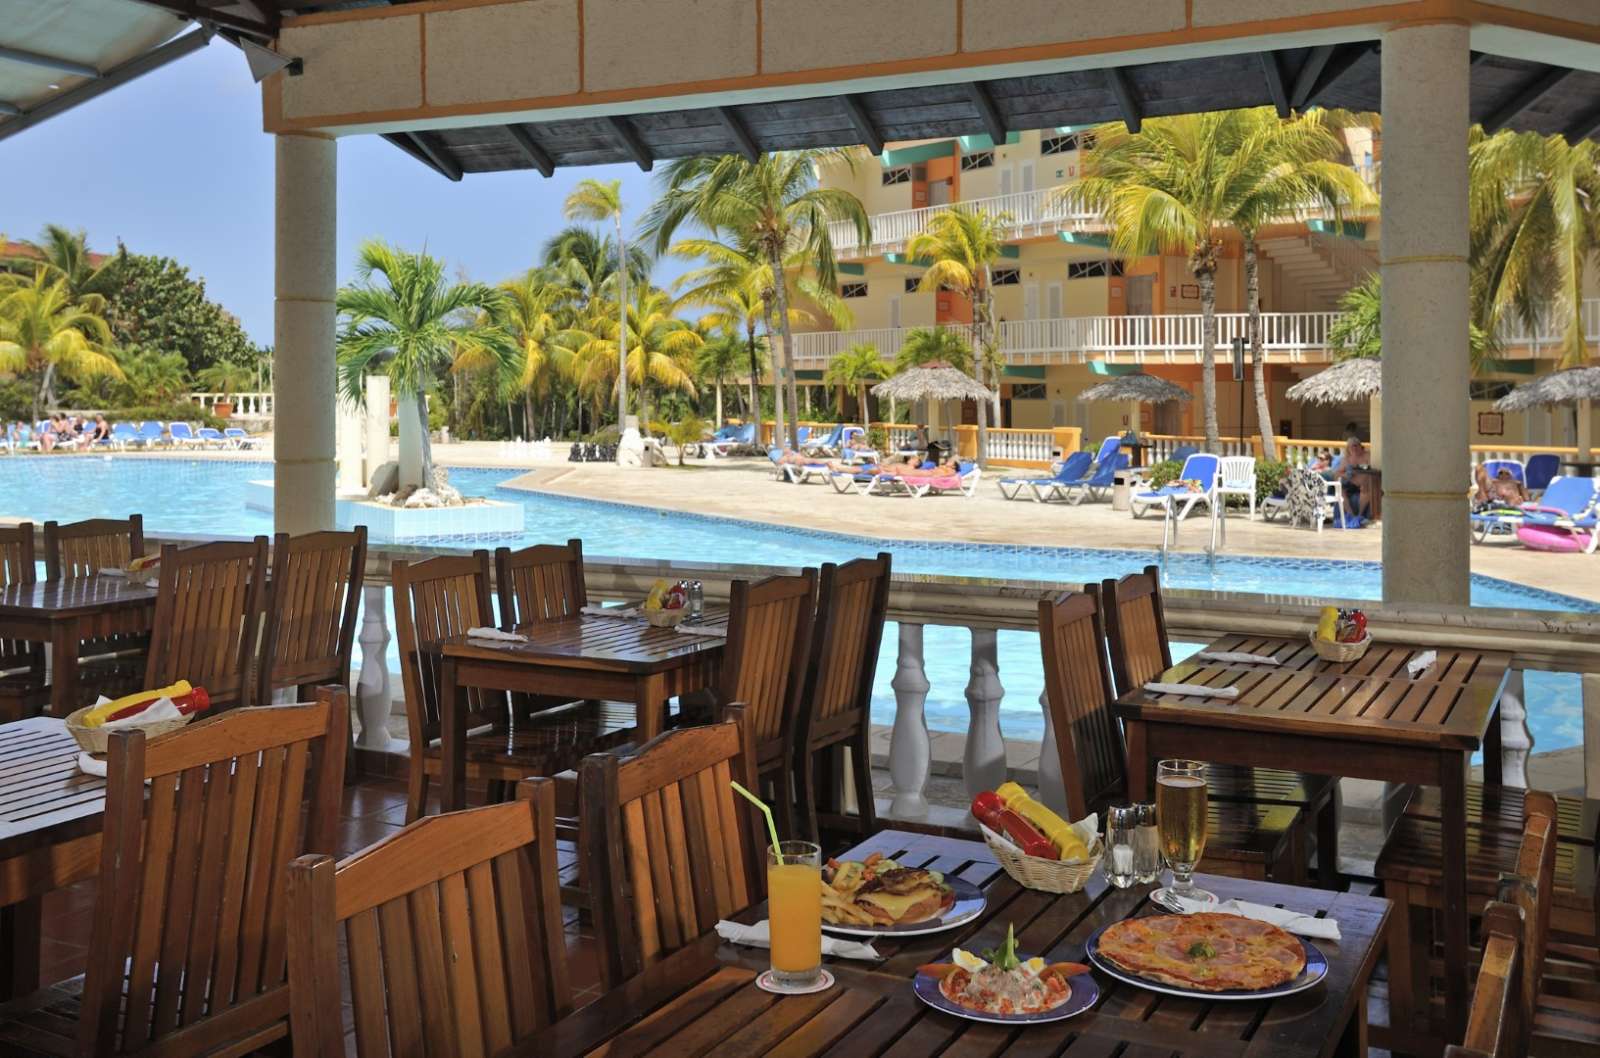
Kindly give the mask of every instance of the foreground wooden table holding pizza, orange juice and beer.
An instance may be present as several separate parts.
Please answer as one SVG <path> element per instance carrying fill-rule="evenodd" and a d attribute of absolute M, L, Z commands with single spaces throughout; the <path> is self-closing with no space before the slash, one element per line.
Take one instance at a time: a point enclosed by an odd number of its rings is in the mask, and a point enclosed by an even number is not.
<path fill-rule="evenodd" d="M 1330 1058 L 1366 1053 L 1366 984 L 1382 949 L 1389 901 L 1355 893 L 1200 876 L 1224 898 L 1277 904 L 1333 917 L 1338 941 L 1315 941 L 1328 976 L 1310 989 L 1270 1000 L 1214 1002 L 1165 996 L 1091 970 L 1099 1002 L 1069 1020 L 1019 1026 L 984 1024 L 925 1005 L 912 992 L 917 967 L 947 962 L 950 948 L 984 951 L 1016 928 L 1022 956 L 1083 962 L 1083 946 L 1104 925 L 1165 914 L 1152 887 L 1112 888 L 1096 874 L 1078 893 L 1022 888 L 981 842 L 882 831 L 840 858 L 880 852 L 906 866 L 957 874 L 984 890 L 971 922 L 923 936 L 874 938 L 878 962 L 827 957 L 835 978 L 811 996 L 773 996 L 757 988 L 770 952 L 722 943 L 715 933 L 512 1048 L 526 1058 L 587 1055 L 768 1055 L 771 1058 L 866 1058 L 1064 1055 Z M 744 922 L 766 917 L 757 904 Z"/>

